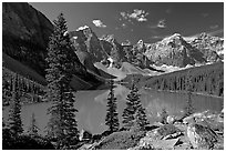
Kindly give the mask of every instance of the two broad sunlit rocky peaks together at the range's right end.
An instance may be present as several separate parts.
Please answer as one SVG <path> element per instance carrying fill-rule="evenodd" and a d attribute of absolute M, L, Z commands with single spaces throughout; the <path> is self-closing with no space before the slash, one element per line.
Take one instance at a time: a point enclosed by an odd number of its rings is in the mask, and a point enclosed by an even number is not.
<path fill-rule="evenodd" d="M 195 39 L 184 39 L 179 33 L 156 43 L 146 43 L 145 55 L 156 65 L 186 67 L 195 63 L 216 62 L 224 50 L 224 40 L 202 33 Z"/>

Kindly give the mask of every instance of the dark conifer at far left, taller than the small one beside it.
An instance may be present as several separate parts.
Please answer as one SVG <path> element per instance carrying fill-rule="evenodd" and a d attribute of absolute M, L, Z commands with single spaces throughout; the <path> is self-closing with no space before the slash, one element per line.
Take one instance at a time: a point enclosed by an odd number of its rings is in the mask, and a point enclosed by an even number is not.
<path fill-rule="evenodd" d="M 9 111 L 9 129 L 13 135 L 17 138 L 23 132 L 22 121 L 21 121 L 21 104 L 20 104 L 20 87 L 19 87 L 18 74 L 12 81 L 12 100 L 10 102 Z"/>

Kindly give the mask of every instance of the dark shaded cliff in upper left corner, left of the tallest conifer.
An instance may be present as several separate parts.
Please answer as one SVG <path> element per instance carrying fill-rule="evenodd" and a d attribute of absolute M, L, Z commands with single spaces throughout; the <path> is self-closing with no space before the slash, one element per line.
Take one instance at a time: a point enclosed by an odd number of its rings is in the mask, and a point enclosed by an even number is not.
<path fill-rule="evenodd" d="M 44 74 L 44 57 L 52 23 L 25 2 L 2 3 L 2 50 Z"/>

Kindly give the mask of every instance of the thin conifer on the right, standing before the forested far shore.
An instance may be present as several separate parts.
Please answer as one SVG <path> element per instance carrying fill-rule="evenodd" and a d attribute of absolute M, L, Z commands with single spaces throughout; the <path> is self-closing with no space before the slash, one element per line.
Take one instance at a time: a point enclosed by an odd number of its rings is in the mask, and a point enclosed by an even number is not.
<path fill-rule="evenodd" d="M 191 74 L 191 71 L 188 71 L 186 79 L 185 79 L 187 100 L 186 100 L 186 105 L 184 108 L 184 116 L 189 116 L 191 114 L 195 112 L 195 108 L 193 107 L 193 103 L 192 103 L 192 92 L 193 92 L 192 79 L 193 77 Z"/>

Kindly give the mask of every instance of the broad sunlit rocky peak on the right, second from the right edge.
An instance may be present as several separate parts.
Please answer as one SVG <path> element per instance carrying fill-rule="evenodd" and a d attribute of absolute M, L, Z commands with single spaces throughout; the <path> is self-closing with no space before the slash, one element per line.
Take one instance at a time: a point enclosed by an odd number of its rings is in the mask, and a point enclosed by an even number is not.
<path fill-rule="evenodd" d="M 165 38 L 160 42 L 146 44 L 145 54 L 148 60 L 157 65 L 186 67 L 196 62 L 206 62 L 204 54 L 187 43 L 178 33 Z"/>

